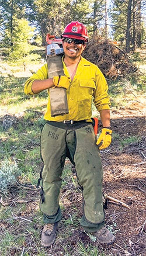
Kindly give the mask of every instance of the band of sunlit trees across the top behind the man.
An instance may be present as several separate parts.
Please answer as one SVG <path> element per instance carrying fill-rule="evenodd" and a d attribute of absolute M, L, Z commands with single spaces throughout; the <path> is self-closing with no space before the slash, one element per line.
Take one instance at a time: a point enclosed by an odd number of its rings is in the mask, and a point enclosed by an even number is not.
<path fill-rule="evenodd" d="M 97 34 L 124 43 L 127 53 L 145 42 L 143 0 L 1 0 L 0 3 L 0 46 L 13 61 L 27 57 L 30 43 L 44 45 L 47 33 L 60 37 L 71 20 L 84 23 L 90 39 Z"/>

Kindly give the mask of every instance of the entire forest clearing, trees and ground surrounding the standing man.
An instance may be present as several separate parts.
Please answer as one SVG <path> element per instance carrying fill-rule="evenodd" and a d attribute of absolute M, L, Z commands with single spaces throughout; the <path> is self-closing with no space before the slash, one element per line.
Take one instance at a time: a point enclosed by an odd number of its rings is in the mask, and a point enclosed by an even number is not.
<path fill-rule="evenodd" d="M 0 0 L 0 4 L 0 255 L 145 256 L 145 1 Z M 40 130 L 47 92 L 30 96 L 23 88 L 46 63 L 46 34 L 60 37 L 72 20 L 88 28 L 84 57 L 105 71 L 109 84 L 113 139 L 100 155 L 103 192 L 119 200 L 108 200 L 105 209 L 107 228 L 116 242 L 100 245 L 79 226 L 82 195 L 67 159 L 60 199 L 63 218 L 56 243 L 45 249 L 40 245 L 43 220 L 36 184 L 42 167 Z M 92 114 L 99 117 L 94 105 Z M 99 118 L 99 133 L 101 127 Z"/>

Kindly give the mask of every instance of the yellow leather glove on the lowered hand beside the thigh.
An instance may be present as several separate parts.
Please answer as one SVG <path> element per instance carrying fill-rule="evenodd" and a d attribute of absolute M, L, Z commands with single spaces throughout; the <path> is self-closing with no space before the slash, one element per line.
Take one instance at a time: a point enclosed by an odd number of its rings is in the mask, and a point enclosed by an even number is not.
<path fill-rule="evenodd" d="M 109 147 L 110 143 L 112 142 L 112 130 L 107 128 L 102 128 L 102 133 L 100 134 L 98 141 L 96 142 L 97 145 L 102 143 L 99 147 L 99 150 L 102 150 L 106 147 Z"/>

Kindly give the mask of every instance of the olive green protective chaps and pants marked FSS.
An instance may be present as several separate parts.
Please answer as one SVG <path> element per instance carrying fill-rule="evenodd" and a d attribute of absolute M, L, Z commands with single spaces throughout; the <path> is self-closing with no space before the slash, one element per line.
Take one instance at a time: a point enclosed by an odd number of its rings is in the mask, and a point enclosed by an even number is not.
<path fill-rule="evenodd" d="M 41 132 L 41 157 L 44 162 L 40 210 L 45 223 L 61 220 L 59 207 L 61 175 L 65 158 L 75 164 L 79 185 L 84 198 L 81 225 L 94 232 L 104 226 L 102 202 L 103 171 L 91 123 L 63 124 L 48 122 Z M 53 125 L 52 125 L 53 124 Z M 60 126 L 60 127 L 56 127 Z"/>

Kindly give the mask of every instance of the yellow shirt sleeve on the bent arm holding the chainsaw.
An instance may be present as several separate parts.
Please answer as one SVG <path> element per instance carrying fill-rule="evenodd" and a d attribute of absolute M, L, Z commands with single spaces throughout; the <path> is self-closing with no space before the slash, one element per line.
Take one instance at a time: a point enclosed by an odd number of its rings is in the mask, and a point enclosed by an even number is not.
<path fill-rule="evenodd" d="M 25 82 L 25 94 L 34 94 L 32 91 L 32 84 L 34 80 L 44 80 L 48 78 L 48 68 L 47 64 L 44 64 L 35 74 L 32 75 L 27 81 Z"/>

